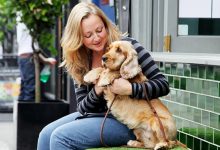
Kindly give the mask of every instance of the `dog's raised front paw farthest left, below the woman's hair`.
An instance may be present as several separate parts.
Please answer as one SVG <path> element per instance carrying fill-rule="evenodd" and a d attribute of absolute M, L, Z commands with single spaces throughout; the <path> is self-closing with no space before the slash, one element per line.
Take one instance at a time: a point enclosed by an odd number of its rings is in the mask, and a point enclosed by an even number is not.
<path fill-rule="evenodd" d="M 97 79 L 99 79 L 99 76 L 101 72 L 103 71 L 103 68 L 96 68 L 91 71 L 89 71 L 83 78 L 83 80 L 86 83 L 95 83 Z"/>

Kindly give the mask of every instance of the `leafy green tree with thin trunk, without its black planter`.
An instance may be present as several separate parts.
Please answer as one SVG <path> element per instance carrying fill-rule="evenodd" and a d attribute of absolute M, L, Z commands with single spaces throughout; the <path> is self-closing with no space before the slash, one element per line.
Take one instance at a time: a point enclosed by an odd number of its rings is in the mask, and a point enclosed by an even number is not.
<path fill-rule="evenodd" d="M 39 55 L 34 47 L 37 41 L 42 48 L 41 51 L 49 50 L 56 55 L 54 42 L 54 27 L 58 17 L 62 16 L 62 6 L 68 0 L 13 0 L 16 11 L 21 12 L 21 22 L 23 22 L 32 36 L 32 47 L 34 50 L 35 63 L 35 102 L 40 102 L 40 66 Z"/>

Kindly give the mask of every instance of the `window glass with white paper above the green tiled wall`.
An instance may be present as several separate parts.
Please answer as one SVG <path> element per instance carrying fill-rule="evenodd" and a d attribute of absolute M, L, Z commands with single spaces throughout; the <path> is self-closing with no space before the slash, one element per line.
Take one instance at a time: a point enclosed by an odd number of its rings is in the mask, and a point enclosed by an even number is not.
<path fill-rule="evenodd" d="M 220 0 L 179 0 L 178 35 L 220 35 Z"/>

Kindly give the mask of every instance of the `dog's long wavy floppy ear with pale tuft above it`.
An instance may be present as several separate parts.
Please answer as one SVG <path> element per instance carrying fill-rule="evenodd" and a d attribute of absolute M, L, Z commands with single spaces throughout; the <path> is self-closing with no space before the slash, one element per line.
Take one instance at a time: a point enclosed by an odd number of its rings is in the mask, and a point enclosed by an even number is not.
<path fill-rule="evenodd" d="M 126 60 L 120 68 L 120 74 L 124 79 L 131 79 L 141 72 L 141 68 L 138 64 L 137 52 L 128 41 L 122 41 L 119 47 L 126 55 Z"/>

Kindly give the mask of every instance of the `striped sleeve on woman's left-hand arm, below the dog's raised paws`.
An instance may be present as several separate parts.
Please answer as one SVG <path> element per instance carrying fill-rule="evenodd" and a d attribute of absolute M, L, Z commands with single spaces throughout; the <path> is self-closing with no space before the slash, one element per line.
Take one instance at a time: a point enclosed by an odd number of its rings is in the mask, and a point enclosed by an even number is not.
<path fill-rule="evenodd" d="M 87 85 L 74 84 L 77 100 L 77 110 L 81 114 L 104 112 L 106 101 L 103 96 L 97 96 L 95 89 Z"/>

